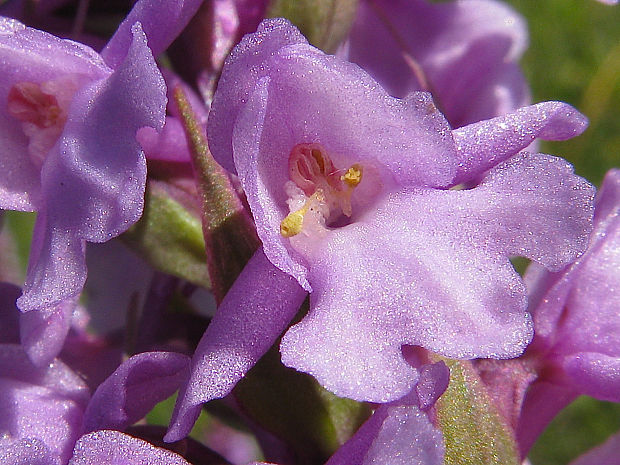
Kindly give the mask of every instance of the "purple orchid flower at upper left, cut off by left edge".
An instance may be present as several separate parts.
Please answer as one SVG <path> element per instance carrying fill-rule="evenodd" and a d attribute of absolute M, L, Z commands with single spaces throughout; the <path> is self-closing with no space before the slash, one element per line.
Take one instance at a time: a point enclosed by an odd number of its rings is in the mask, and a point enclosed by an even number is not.
<path fill-rule="evenodd" d="M 101 55 L 0 19 L 0 208 L 38 213 L 18 299 L 22 343 L 36 364 L 62 347 L 86 279 L 85 242 L 107 241 L 142 214 L 136 131 L 160 130 L 166 106 L 153 53 L 199 4 L 138 2 Z"/>

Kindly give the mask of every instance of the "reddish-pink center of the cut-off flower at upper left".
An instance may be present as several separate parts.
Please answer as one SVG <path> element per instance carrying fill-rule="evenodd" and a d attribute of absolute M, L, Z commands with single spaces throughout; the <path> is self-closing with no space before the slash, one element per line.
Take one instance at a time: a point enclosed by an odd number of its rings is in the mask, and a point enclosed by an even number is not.
<path fill-rule="evenodd" d="M 19 82 L 9 90 L 8 112 L 21 121 L 28 153 L 39 168 L 63 131 L 77 88 L 77 78 L 65 76 L 43 83 Z"/>

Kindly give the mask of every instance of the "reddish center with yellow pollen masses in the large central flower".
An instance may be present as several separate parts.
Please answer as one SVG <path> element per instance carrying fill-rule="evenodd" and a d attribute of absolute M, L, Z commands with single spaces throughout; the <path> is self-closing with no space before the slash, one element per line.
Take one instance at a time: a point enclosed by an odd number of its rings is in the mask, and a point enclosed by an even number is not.
<path fill-rule="evenodd" d="M 304 228 L 309 213 L 322 222 L 344 214 L 351 217 L 351 196 L 362 181 L 363 169 L 353 164 L 348 169 L 338 169 L 320 144 L 298 144 L 288 159 L 289 177 L 301 193 L 292 192 L 290 197 L 304 198 L 300 208 L 292 209 L 280 223 L 280 234 L 292 237 Z M 294 203 L 295 199 L 290 199 Z"/>

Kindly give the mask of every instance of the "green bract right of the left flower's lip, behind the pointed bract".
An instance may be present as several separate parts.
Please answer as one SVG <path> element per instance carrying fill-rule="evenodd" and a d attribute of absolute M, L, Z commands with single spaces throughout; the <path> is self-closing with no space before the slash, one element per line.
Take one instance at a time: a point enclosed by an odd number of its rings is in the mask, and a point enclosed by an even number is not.
<path fill-rule="evenodd" d="M 200 219 L 163 183 L 147 184 L 142 218 L 120 237 L 157 270 L 211 287 Z"/>

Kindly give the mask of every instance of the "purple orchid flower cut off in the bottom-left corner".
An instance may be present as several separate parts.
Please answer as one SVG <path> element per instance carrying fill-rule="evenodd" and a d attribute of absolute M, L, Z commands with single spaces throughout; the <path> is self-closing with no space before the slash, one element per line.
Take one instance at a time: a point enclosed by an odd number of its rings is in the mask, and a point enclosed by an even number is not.
<path fill-rule="evenodd" d="M 170 452 L 151 450 L 150 444 L 117 431 L 79 438 L 95 429 L 126 429 L 142 418 L 178 389 L 187 377 L 189 357 L 170 352 L 135 355 L 101 383 L 91 398 L 84 380 L 63 361 L 35 366 L 15 344 L 19 337 L 17 295 L 19 288 L 0 283 L 0 462 L 90 463 L 84 457 L 98 454 L 102 458 L 105 451 L 112 454 L 117 444 L 131 449 L 126 457 L 129 464 L 177 463 L 163 460 Z M 155 460 L 160 455 L 162 459 Z M 181 457 L 176 460 L 186 463 Z"/>

